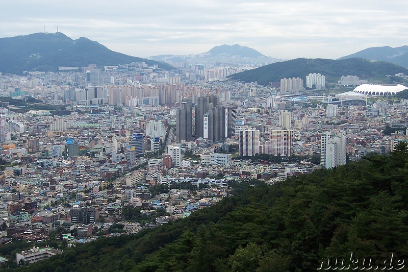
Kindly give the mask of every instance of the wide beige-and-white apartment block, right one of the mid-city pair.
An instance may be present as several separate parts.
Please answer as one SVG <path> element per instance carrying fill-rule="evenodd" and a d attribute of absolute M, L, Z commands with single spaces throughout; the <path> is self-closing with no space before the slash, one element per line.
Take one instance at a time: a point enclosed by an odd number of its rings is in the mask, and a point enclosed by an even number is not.
<path fill-rule="evenodd" d="M 265 153 L 283 157 L 293 155 L 293 130 L 270 130 L 269 141 L 265 142 Z"/>

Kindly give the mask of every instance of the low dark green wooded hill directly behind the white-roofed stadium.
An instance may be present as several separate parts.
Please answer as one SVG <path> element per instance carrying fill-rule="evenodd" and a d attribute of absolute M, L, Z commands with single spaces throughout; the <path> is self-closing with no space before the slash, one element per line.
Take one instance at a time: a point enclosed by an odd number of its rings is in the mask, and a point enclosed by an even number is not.
<path fill-rule="evenodd" d="M 257 81 L 261 85 L 268 85 L 269 82 L 280 82 L 283 78 L 299 77 L 305 80 L 309 73 L 314 72 L 324 75 L 326 82 L 329 83 L 337 83 L 341 76 L 348 75 L 368 79 L 370 82 L 389 83 L 387 75 L 395 75 L 399 72 L 408 73 L 408 69 L 388 62 L 372 62 L 359 58 L 345 60 L 302 58 L 272 63 L 236 73 L 230 78 L 243 82 Z"/>

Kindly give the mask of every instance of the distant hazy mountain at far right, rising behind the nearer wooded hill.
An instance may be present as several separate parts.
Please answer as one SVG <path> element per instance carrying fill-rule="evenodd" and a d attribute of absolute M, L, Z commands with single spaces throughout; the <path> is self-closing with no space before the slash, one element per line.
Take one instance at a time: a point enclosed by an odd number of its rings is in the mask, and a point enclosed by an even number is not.
<path fill-rule="evenodd" d="M 378 60 L 387 61 L 400 65 L 402 67 L 408 67 L 408 45 L 400 47 L 370 47 L 365 50 L 356 52 L 354 54 L 341 57 L 339 60 L 350 58 L 363 58 L 366 60 Z"/>

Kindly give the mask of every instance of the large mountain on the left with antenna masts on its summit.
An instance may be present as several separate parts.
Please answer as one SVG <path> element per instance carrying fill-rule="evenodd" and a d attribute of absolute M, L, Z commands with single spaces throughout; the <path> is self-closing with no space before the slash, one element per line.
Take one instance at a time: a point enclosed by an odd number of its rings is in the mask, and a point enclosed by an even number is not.
<path fill-rule="evenodd" d="M 72 40 L 60 32 L 0 38 L 0 52 L 0 72 L 16 74 L 23 71 L 58 71 L 59 66 L 103 66 L 143 61 L 163 69 L 172 68 L 166 63 L 114 52 L 84 37 Z"/>

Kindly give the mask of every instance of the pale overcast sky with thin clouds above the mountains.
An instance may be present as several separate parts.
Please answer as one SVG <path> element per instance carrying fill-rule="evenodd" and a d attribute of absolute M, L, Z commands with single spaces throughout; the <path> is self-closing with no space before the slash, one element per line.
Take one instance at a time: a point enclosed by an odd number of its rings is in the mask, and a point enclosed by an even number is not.
<path fill-rule="evenodd" d="M 408 1 L 13 0 L 0 37 L 59 32 L 136 57 L 187 55 L 240 44 L 264 55 L 337 59 L 408 44 Z"/>

